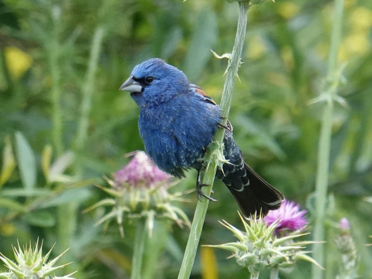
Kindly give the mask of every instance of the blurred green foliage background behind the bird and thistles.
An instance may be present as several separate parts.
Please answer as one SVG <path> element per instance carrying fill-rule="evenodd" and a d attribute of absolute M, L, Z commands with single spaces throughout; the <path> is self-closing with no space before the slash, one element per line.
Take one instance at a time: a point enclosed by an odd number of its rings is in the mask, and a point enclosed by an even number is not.
<path fill-rule="evenodd" d="M 310 102 L 321 94 L 327 72 L 332 4 L 278 0 L 251 8 L 230 113 L 247 163 L 288 200 L 307 208 L 310 222 L 322 109 Z M 40 237 L 46 250 L 57 243 L 55 255 L 71 247 L 61 261 L 74 262 L 65 271 L 78 270 L 77 278 L 128 278 L 130 224 L 121 238 L 115 224 L 107 230 L 94 226 L 103 212 L 82 214 L 105 197 L 93 184 L 124 166 L 126 153 L 143 150 L 138 108 L 118 88 L 136 64 L 160 57 L 219 102 L 227 61 L 214 58 L 210 49 L 231 51 L 237 14 L 237 3 L 222 0 L 0 1 L 0 147 L 12 145 L 17 162 L 0 183 L 1 253 L 10 257 L 11 244 Z M 372 250 L 364 246 L 372 234 L 372 206 L 365 199 L 372 196 L 371 26 L 372 2 L 346 0 L 339 53 L 346 82 L 339 94 L 347 106 L 335 104 L 326 278 L 334 278 L 340 261 L 333 239 L 341 217 L 351 223 L 359 274 L 372 277 Z M 102 32 L 99 57 L 89 66 L 97 32 Z M 87 137 L 79 139 L 84 105 L 90 108 Z M 42 168 L 48 154 L 52 162 L 59 158 L 54 180 Z M 195 176 L 189 171 L 176 190 L 192 189 Z M 233 241 L 218 220 L 240 225 L 226 187 L 217 182 L 214 190 L 218 202 L 209 206 L 201 244 Z M 188 198 L 182 206 L 191 219 L 196 194 Z M 177 276 L 188 231 L 174 225 L 159 234 L 166 248 L 157 258 L 155 278 Z M 214 253 L 219 278 L 248 276 L 225 259 L 226 251 Z M 198 256 L 192 278 L 208 278 L 203 264 L 208 263 Z M 281 278 L 307 278 L 310 272 L 310 264 L 299 263 Z"/>

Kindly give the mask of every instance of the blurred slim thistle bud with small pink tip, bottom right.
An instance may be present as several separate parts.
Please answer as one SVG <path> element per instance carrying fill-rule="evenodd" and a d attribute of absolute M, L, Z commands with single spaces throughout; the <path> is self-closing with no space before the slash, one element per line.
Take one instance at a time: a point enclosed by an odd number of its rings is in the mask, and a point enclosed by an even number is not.
<path fill-rule="evenodd" d="M 337 249 L 341 252 L 340 273 L 336 279 L 358 278 L 356 267 L 356 247 L 352 235 L 350 234 L 350 224 L 346 218 L 339 222 L 340 236 L 336 238 Z"/>

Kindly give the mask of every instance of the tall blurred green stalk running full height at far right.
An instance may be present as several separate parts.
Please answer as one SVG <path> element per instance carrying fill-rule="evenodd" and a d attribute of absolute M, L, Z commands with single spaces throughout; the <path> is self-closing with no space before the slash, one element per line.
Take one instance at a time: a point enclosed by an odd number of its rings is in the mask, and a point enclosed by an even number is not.
<path fill-rule="evenodd" d="M 325 204 L 327 202 L 328 192 L 328 172 L 329 172 L 329 155 L 331 146 L 332 122 L 333 122 L 333 100 L 337 96 L 337 86 L 339 83 L 339 73 L 337 71 L 337 55 L 341 41 L 342 15 L 344 9 L 344 0 L 335 0 L 334 18 L 331 33 L 330 55 L 328 60 L 327 80 L 324 83 L 323 92 L 325 106 L 321 123 L 321 131 L 318 149 L 318 170 L 315 184 L 315 225 L 314 241 L 324 240 L 324 217 Z M 314 260 L 321 266 L 324 266 L 324 246 L 314 244 Z M 312 266 L 312 278 L 323 278 L 323 270 L 317 266 Z"/>

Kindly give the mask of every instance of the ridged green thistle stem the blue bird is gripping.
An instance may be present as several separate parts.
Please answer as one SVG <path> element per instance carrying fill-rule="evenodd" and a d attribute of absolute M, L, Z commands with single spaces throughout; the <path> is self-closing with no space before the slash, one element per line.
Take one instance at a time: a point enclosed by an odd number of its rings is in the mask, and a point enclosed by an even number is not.
<path fill-rule="evenodd" d="M 244 38 L 247 28 L 247 12 L 249 8 L 249 1 L 239 2 L 239 19 L 237 33 L 235 36 L 234 48 L 232 50 L 231 60 L 228 64 L 224 90 L 221 99 L 221 116 L 223 117 L 223 124 L 227 122 L 227 117 L 230 111 L 232 100 L 232 89 L 234 88 L 235 77 L 240 66 L 241 54 L 243 51 Z M 217 129 L 213 141 L 218 141 L 222 144 L 224 138 L 224 129 Z M 211 185 L 205 187 L 205 193 L 211 195 L 214 177 L 217 170 L 217 162 L 212 162 L 208 170 L 204 174 L 203 183 Z M 202 197 L 202 201 L 198 202 L 195 209 L 194 219 L 191 225 L 189 240 L 183 257 L 180 273 L 178 279 L 187 279 L 190 277 L 192 266 L 195 260 L 196 251 L 198 250 L 199 240 L 202 233 L 203 223 L 208 208 L 209 200 Z"/>

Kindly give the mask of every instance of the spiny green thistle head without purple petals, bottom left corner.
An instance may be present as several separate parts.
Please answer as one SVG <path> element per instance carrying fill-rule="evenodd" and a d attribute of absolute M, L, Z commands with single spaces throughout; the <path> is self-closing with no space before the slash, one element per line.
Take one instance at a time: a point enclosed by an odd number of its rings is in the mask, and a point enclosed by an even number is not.
<path fill-rule="evenodd" d="M 49 255 L 53 249 L 53 247 L 49 250 L 49 252 L 43 257 L 41 255 L 42 246 L 41 243 L 40 248 L 38 248 L 39 240 L 36 241 L 35 248 L 31 247 L 31 242 L 29 247 L 24 247 L 23 250 L 20 248 L 18 243 L 18 250 L 16 247 L 13 246 L 14 256 L 16 259 L 16 263 L 12 260 L 5 257 L 1 254 L 0 259 L 4 262 L 5 266 L 9 269 L 9 272 L 2 272 L 0 273 L 1 279 L 17 279 L 17 278 L 29 278 L 29 279 L 74 279 L 70 277 L 75 272 L 65 275 L 65 276 L 55 276 L 54 273 L 61 269 L 62 267 L 66 266 L 67 264 L 62 264 L 60 266 L 54 266 L 57 260 L 65 253 L 63 252 L 55 259 L 50 260 L 47 262 Z M 67 250 L 66 250 L 67 251 Z"/>

